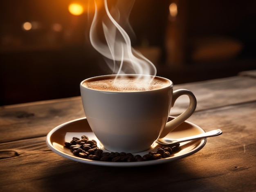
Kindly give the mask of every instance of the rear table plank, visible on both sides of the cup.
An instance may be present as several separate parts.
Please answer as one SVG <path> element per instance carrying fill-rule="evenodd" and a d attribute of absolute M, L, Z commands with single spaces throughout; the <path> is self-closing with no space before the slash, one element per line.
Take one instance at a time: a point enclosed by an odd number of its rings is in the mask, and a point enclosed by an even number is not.
<path fill-rule="evenodd" d="M 198 100 L 196 110 L 205 110 L 256 100 L 256 79 L 230 77 L 175 85 L 191 90 Z M 188 98 L 177 99 L 171 115 L 182 113 Z M 41 137 L 59 124 L 84 117 L 80 97 L 0 107 L 0 143 Z M 36 130 L 36 131 L 35 131 Z"/>

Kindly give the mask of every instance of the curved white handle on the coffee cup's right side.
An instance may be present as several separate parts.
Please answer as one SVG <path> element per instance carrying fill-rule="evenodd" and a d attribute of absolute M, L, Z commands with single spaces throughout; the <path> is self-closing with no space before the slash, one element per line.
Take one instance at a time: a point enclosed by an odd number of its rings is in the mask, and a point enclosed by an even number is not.
<path fill-rule="evenodd" d="M 189 96 L 189 107 L 178 117 L 166 123 L 159 138 L 165 137 L 169 132 L 173 131 L 175 128 L 177 128 L 177 126 L 179 126 L 184 121 L 186 121 L 186 119 L 188 119 L 195 111 L 196 104 L 197 104 L 195 95 L 190 90 L 187 90 L 187 89 L 178 89 L 173 91 L 171 107 L 173 107 L 176 99 L 182 95 Z"/>

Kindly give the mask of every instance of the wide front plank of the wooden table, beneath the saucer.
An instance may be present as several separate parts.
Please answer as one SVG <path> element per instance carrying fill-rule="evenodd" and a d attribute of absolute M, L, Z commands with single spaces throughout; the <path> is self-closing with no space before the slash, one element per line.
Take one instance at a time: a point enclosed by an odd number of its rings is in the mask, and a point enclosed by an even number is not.
<path fill-rule="evenodd" d="M 47 148 L 45 137 L 0 143 L 0 191 L 253 191 L 256 102 L 198 111 L 190 119 L 223 134 L 199 152 L 157 166 L 110 168 L 77 163 Z M 1 153 L 0 153 L 1 154 Z"/>

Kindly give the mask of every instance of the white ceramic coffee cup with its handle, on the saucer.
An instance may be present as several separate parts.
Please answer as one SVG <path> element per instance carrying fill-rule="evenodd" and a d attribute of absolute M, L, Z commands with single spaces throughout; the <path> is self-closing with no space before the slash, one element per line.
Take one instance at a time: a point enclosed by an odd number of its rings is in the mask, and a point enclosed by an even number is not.
<path fill-rule="evenodd" d="M 102 90 L 89 87 L 88 83 L 101 79 L 115 79 L 117 75 L 91 77 L 80 83 L 83 109 L 88 123 L 106 150 L 136 153 L 148 150 L 158 139 L 189 118 L 195 110 L 196 99 L 186 89 L 173 91 L 173 82 L 164 77 L 155 79 L 164 82 L 153 90 Z M 148 75 L 118 75 L 119 78 L 153 77 Z M 127 84 L 122 84 L 126 86 Z M 132 87 L 131 85 L 130 87 Z M 167 122 L 171 107 L 181 95 L 189 96 L 189 107 Z"/>

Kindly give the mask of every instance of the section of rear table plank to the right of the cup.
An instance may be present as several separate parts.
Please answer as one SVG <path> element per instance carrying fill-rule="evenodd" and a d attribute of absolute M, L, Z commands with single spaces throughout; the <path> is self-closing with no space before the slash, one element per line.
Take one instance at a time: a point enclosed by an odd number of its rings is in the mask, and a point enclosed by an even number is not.
<path fill-rule="evenodd" d="M 196 110 L 205 110 L 256 100 L 256 79 L 249 77 L 228 77 L 203 82 L 174 85 L 174 90 L 191 90 L 197 99 Z M 182 113 L 188 106 L 186 96 L 179 97 L 171 109 L 171 115 Z"/>

